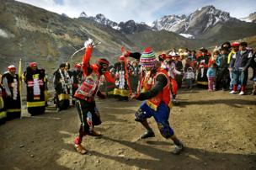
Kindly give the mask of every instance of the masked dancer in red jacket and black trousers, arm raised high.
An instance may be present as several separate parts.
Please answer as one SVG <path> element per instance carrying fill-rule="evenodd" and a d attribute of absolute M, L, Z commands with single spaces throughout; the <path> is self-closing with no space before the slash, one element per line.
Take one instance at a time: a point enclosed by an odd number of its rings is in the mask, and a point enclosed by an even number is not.
<path fill-rule="evenodd" d="M 75 148 L 77 152 L 85 154 L 87 151 L 81 145 L 84 135 L 100 135 L 99 132 L 93 130 L 94 125 L 100 125 L 99 110 L 96 108 L 94 101 L 95 95 L 100 98 L 105 98 L 103 93 L 99 91 L 99 84 L 102 78 L 108 82 L 115 82 L 115 79 L 111 77 L 110 72 L 107 71 L 109 61 L 101 58 L 97 63 L 90 65 L 89 61 L 93 53 L 93 40 L 89 39 L 85 42 L 87 47 L 83 56 L 83 76 L 84 81 L 82 85 L 77 89 L 74 94 L 74 98 L 77 98 L 76 108 L 78 111 L 79 119 L 81 121 L 79 135 L 75 139 Z"/>

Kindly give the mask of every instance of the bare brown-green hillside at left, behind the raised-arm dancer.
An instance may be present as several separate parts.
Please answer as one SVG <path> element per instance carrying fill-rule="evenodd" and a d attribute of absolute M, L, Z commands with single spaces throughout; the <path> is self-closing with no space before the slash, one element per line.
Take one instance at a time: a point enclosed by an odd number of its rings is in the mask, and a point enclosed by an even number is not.
<path fill-rule="evenodd" d="M 13 1 L 1 1 L 0 11 L 0 30 L 3 33 L 0 34 L 1 72 L 9 64 L 17 64 L 19 58 L 23 59 L 24 66 L 28 66 L 29 61 L 38 61 L 41 66 L 54 69 L 61 62 L 68 61 L 88 37 L 102 42 L 93 55 L 110 60 L 120 55 L 121 45 L 129 49 L 134 47 L 115 29 L 86 19 L 70 19 Z"/>

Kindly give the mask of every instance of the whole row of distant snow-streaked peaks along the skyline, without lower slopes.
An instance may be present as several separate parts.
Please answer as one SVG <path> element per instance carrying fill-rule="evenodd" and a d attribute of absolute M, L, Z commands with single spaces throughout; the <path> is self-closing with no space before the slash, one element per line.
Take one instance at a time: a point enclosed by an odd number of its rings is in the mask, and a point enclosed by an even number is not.
<path fill-rule="evenodd" d="M 223 24 L 231 24 L 239 22 L 238 19 L 231 18 L 230 14 L 214 6 L 205 6 L 197 9 L 194 13 L 186 15 L 166 15 L 161 19 L 155 20 L 151 26 L 143 22 L 136 23 L 134 20 L 120 22 L 119 24 L 106 19 L 104 14 L 97 14 L 95 17 L 88 16 L 86 13 L 81 13 L 80 17 L 91 19 L 99 24 L 107 25 L 113 29 L 119 30 L 121 33 L 134 34 L 144 30 L 167 30 L 189 39 L 196 39 L 201 35 L 206 34 L 211 30 L 212 34 L 217 31 L 218 26 Z M 245 19 L 243 19 L 245 20 Z M 256 13 L 251 13 L 246 21 L 255 22 Z M 241 22 L 241 21 L 240 21 Z M 238 23 L 243 24 L 243 22 Z"/>

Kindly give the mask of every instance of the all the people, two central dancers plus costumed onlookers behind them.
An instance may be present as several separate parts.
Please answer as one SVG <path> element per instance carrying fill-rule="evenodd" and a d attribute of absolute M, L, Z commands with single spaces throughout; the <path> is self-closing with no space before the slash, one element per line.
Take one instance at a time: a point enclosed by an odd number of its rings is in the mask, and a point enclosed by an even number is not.
<path fill-rule="evenodd" d="M 256 94 L 256 57 L 246 42 L 225 42 L 216 46 L 212 55 L 203 47 L 198 53 L 189 49 L 172 49 L 158 56 L 150 47 L 142 53 L 126 50 L 112 65 L 104 58 L 91 64 L 93 40 L 87 40 L 85 45 L 81 63 L 75 64 L 73 70 L 68 62 L 62 63 L 53 74 L 57 111 L 68 109 L 70 105 L 77 108 L 81 125 L 74 145 L 81 154 L 87 152 L 81 145 L 83 136 L 100 135 L 93 128 L 101 124 L 95 95 L 117 98 L 118 101 L 129 101 L 131 98 L 144 101 L 135 114 L 135 120 L 147 130 L 141 139 L 154 136 L 147 123 L 148 118 L 154 117 L 163 137 L 175 144 L 173 153 L 179 154 L 184 145 L 168 123 L 172 105 L 177 103 L 179 88 L 191 90 L 196 85 L 208 88 L 209 92 L 230 90 L 230 94 L 239 92 L 243 95 L 248 82 L 248 68 L 252 67 L 252 94 Z M 16 67 L 11 65 L 8 72 L 1 76 L 1 123 L 21 116 L 19 85 L 22 81 L 26 83 L 29 114 L 45 113 L 48 99 L 45 70 L 30 62 L 23 75 L 19 76 Z"/>

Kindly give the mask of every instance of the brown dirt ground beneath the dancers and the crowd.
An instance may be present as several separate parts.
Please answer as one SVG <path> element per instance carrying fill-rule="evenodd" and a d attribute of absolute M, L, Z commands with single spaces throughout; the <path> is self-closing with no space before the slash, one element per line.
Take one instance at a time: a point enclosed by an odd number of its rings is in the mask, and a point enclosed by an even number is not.
<path fill-rule="evenodd" d="M 138 140 L 144 132 L 134 121 L 141 102 L 97 100 L 102 137 L 87 136 L 88 154 L 73 148 L 78 118 L 75 108 L 8 121 L 0 126 L 0 169 L 256 169 L 256 97 L 180 91 L 170 122 L 185 150 L 173 156 L 150 119 L 156 137 Z"/>

